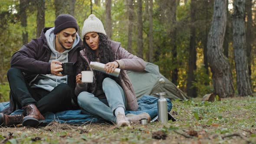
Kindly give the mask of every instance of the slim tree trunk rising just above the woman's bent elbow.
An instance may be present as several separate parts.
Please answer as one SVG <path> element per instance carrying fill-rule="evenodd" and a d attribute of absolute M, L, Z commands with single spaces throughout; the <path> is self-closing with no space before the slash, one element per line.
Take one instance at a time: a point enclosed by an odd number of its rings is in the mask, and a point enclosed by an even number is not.
<path fill-rule="evenodd" d="M 142 23 L 142 0 L 138 0 L 138 54 L 139 58 L 143 58 L 143 23 Z"/>

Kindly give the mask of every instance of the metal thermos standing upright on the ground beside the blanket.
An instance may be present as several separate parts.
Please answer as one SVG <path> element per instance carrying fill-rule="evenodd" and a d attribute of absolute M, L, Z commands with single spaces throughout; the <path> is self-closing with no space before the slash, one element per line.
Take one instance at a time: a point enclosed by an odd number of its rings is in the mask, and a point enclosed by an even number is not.
<path fill-rule="evenodd" d="M 158 121 L 161 121 L 162 124 L 168 122 L 168 111 L 167 111 L 167 100 L 165 99 L 165 92 L 157 93 L 159 95 L 158 99 Z"/>

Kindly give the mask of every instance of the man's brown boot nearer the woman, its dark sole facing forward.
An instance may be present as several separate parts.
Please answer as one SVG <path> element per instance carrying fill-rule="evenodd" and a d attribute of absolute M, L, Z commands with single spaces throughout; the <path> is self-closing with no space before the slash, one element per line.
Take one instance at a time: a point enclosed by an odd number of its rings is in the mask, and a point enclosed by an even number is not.
<path fill-rule="evenodd" d="M 22 119 L 23 126 L 35 127 L 39 124 L 40 120 L 45 119 L 43 115 L 41 115 L 40 111 L 36 108 L 36 105 L 30 104 L 22 109 L 26 111 L 26 116 Z"/>

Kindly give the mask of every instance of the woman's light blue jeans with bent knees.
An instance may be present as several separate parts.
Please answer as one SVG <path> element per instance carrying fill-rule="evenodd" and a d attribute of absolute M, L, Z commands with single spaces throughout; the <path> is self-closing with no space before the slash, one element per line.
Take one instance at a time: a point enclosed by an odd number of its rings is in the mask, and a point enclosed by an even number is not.
<path fill-rule="evenodd" d="M 125 92 L 120 85 L 110 78 L 103 80 L 102 88 L 106 99 L 98 99 L 89 92 L 81 92 L 77 98 L 78 104 L 92 115 L 115 122 L 115 109 L 118 107 L 126 108 Z"/>

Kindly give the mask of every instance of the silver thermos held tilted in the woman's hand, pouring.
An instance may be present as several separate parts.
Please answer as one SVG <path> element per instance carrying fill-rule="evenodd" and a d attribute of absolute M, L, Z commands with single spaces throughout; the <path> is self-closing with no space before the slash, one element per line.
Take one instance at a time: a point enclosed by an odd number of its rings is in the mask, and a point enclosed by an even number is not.
<path fill-rule="evenodd" d="M 116 68 L 114 72 L 112 72 L 112 73 L 107 73 L 107 72 L 105 71 L 105 69 L 104 69 L 104 68 L 105 68 L 105 64 L 100 63 L 100 62 L 90 62 L 90 67 L 91 67 L 92 69 L 95 69 L 95 70 L 97 70 L 97 71 L 100 71 L 100 72 L 103 72 L 103 73 L 105 73 L 105 74 L 112 75 L 112 76 L 115 76 L 115 77 L 118 77 L 118 75 L 119 75 L 119 73 L 120 73 L 120 70 L 121 70 L 121 69 Z"/>

